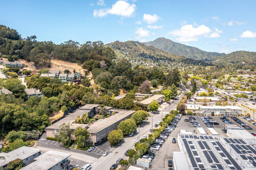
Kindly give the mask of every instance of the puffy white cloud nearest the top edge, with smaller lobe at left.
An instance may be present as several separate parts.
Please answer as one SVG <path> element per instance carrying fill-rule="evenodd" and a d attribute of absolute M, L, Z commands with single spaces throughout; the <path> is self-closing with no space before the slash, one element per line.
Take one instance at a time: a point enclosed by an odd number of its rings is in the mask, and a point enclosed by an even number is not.
<path fill-rule="evenodd" d="M 115 4 L 113 4 L 111 8 L 95 9 L 93 11 L 93 16 L 103 17 L 108 14 L 112 14 L 112 15 L 130 17 L 133 15 L 135 9 L 136 9 L 135 4 L 129 4 L 124 0 L 119 0 Z"/>

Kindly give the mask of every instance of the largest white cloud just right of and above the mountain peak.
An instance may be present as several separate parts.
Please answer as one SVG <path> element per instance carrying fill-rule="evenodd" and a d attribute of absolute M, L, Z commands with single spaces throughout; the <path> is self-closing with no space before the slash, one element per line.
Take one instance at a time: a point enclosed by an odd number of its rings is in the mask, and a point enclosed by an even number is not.
<path fill-rule="evenodd" d="M 173 35 L 174 37 L 179 37 L 177 40 L 181 42 L 189 41 L 198 41 L 198 38 L 202 35 L 208 35 L 211 33 L 210 28 L 201 25 L 197 28 L 194 28 L 192 25 L 186 25 L 180 29 L 170 31 L 168 34 Z"/>

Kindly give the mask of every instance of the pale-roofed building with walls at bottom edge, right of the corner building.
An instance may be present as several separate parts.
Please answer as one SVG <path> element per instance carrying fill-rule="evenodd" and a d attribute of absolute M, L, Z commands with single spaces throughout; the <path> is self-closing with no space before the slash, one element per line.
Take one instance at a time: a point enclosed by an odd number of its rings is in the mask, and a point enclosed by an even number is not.
<path fill-rule="evenodd" d="M 20 170 L 72 170 L 68 157 L 71 154 L 49 150 Z"/>

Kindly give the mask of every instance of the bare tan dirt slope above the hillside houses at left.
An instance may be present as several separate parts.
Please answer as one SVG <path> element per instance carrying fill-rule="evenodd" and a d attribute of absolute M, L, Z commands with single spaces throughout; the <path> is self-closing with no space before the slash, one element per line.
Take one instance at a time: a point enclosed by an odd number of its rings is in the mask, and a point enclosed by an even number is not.
<path fill-rule="evenodd" d="M 35 71 L 39 71 L 40 69 L 43 69 L 43 66 L 39 66 L 39 68 L 36 69 L 36 67 L 34 66 L 34 62 L 28 62 L 24 59 L 19 59 L 19 61 L 28 66 L 23 69 L 31 70 L 32 73 L 35 73 Z M 71 63 L 71 62 L 67 62 L 67 61 L 63 61 L 63 60 L 56 60 L 56 59 L 51 60 L 50 68 L 48 68 L 48 67 L 45 67 L 45 68 L 50 71 L 59 70 L 62 73 L 64 72 L 65 69 L 68 69 L 72 73 L 73 73 L 73 70 L 76 69 L 76 72 L 80 72 L 82 75 L 85 75 L 85 71 L 87 71 L 87 69 L 83 69 L 82 66 L 79 66 L 76 63 Z"/>

